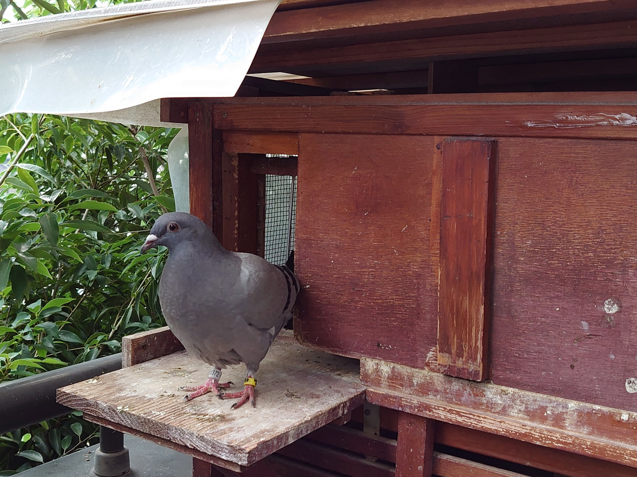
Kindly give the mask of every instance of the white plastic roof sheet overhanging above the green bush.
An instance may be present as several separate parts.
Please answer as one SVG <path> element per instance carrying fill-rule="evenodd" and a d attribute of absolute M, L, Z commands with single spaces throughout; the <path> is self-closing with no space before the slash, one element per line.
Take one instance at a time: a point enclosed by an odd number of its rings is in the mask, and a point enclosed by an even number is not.
<path fill-rule="evenodd" d="M 162 97 L 233 96 L 279 3 L 148 0 L 5 24 L 0 115 L 99 117 Z"/>

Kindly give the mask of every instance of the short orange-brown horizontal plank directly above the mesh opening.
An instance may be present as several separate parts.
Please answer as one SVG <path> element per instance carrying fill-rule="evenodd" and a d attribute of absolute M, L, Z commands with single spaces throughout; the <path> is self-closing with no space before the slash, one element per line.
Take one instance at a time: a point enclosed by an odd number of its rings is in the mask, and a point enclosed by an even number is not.
<path fill-rule="evenodd" d="M 224 131 L 224 152 L 298 155 L 296 133 Z"/>

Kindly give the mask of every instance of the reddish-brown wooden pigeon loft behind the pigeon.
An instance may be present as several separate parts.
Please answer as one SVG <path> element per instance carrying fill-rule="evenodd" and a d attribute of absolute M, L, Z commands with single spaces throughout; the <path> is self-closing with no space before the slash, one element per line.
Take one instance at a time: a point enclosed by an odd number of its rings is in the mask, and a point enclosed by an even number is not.
<path fill-rule="evenodd" d="M 189 125 L 191 212 L 230 249 L 259 251 L 259 175 L 297 176 L 294 335 L 360 360 L 366 408 L 340 380 L 312 434 L 248 467 L 202 438 L 195 473 L 637 476 L 637 6 L 283 1 L 250 71 L 276 72 L 308 78 L 162 120 Z M 161 427 L 90 385 L 61 397 Z"/>

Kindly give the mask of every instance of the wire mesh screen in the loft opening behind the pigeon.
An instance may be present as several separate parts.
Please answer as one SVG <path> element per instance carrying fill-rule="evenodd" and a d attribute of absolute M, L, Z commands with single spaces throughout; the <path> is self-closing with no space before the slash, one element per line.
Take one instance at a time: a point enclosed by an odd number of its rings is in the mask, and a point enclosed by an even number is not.
<path fill-rule="evenodd" d="M 266 175 L 266 223 L 264 256 L 283 265 L 294 250 L 296 177 Z"/>

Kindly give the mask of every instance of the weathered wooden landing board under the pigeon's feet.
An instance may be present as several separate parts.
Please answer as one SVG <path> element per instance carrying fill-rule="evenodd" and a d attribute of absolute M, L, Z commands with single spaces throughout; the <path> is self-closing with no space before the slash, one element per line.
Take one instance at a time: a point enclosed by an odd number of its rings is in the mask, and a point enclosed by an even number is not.
<path fill-rule="evenodd" d="M 236 469 L 296 441 L 360 406 L 365 388 L 357 361 L 310 350 L 282 332 L 262 361 L 257 407 L 231 409 L 236 399 L 211 394 L 183 402 L 180 385 L 203 384 L 210 366 L 178 352 L 57 391 L 57 400 L 134 433 L 143 432 L 234 463 Z M 224 371 L 222 380 L 241 387 L 243 364 Z M 108 425 L 108 424 L 107 424 Z M 159 443 L 162 443 L 160 440 Z"/>

